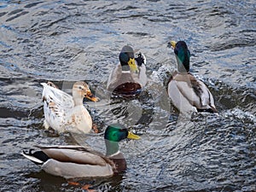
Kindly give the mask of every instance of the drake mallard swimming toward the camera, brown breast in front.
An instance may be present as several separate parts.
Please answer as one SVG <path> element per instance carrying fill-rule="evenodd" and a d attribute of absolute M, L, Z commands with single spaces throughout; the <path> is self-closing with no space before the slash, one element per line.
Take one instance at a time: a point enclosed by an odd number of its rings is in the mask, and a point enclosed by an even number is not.
<path fill-rule="evenodd" d="M 147 84 L 146 57 L 139 53 L 134 58 L 134 51 L 125 45 L 119 54 L 119 64 L 113 68 L 108 78 L 107 89 L 121 96 L 134 96 Z"/>

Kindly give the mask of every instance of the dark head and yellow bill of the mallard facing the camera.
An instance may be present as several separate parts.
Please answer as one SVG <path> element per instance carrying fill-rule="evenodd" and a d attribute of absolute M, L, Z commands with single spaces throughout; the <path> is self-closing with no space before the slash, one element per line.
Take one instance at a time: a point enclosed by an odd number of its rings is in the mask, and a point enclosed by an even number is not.
<path fill-rule="evenodd" d="M 131 73 L 137 73 L 138 68 L 135 63 L 134 51 L 129 45 L 125 45 L 119 54 L 119 61 L 123 71 L 130 71 Z"/>

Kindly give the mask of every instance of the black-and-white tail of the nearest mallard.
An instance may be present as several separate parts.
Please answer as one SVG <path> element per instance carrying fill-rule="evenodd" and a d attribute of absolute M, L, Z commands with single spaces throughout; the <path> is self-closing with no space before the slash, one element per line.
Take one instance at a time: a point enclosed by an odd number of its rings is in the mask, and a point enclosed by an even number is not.
<path fill-rule="evenodd" d="M 28 152 L 23 151 L 21 154 L 26 157 L 26 159 L 31 160 L 33 163 L 37 165 L 43 165 L 44 162 L 49 160 L 49 156 L 44 154 L 43 151 L 35 151 L 32 153 L 33 149 L 29 149 Z"/>

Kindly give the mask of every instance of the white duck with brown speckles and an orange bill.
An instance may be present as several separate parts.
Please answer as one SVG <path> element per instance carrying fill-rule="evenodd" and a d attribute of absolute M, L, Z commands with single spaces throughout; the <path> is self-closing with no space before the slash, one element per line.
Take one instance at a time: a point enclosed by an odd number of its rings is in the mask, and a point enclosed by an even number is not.
<path fill-rule="evenodd" d="M 73 84 L 73 96 L 59 90 L 55 84 L 42 83 L 44 102 L 44 127 L 51 127 L 58 133 L 71 131 L 88 133 L 92 128 L 90 113 L 84 108 L 84 97 L 96 102 L 88 84 L 79 81 Z"/>

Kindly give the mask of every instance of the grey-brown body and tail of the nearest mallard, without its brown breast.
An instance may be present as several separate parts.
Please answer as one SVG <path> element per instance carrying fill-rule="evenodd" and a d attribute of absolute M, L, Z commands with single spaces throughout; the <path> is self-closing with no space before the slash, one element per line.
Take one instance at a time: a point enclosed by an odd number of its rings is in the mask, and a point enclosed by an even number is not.
<path fill-rule="evenodd" d="M 41 151 L 24 153 L 51 175 L 65 178 L 113 176 L 113 162 L 103 154 L 80 146 L 38 146 Z M 44 159 L 43 159 L 44 157 Z"/>

